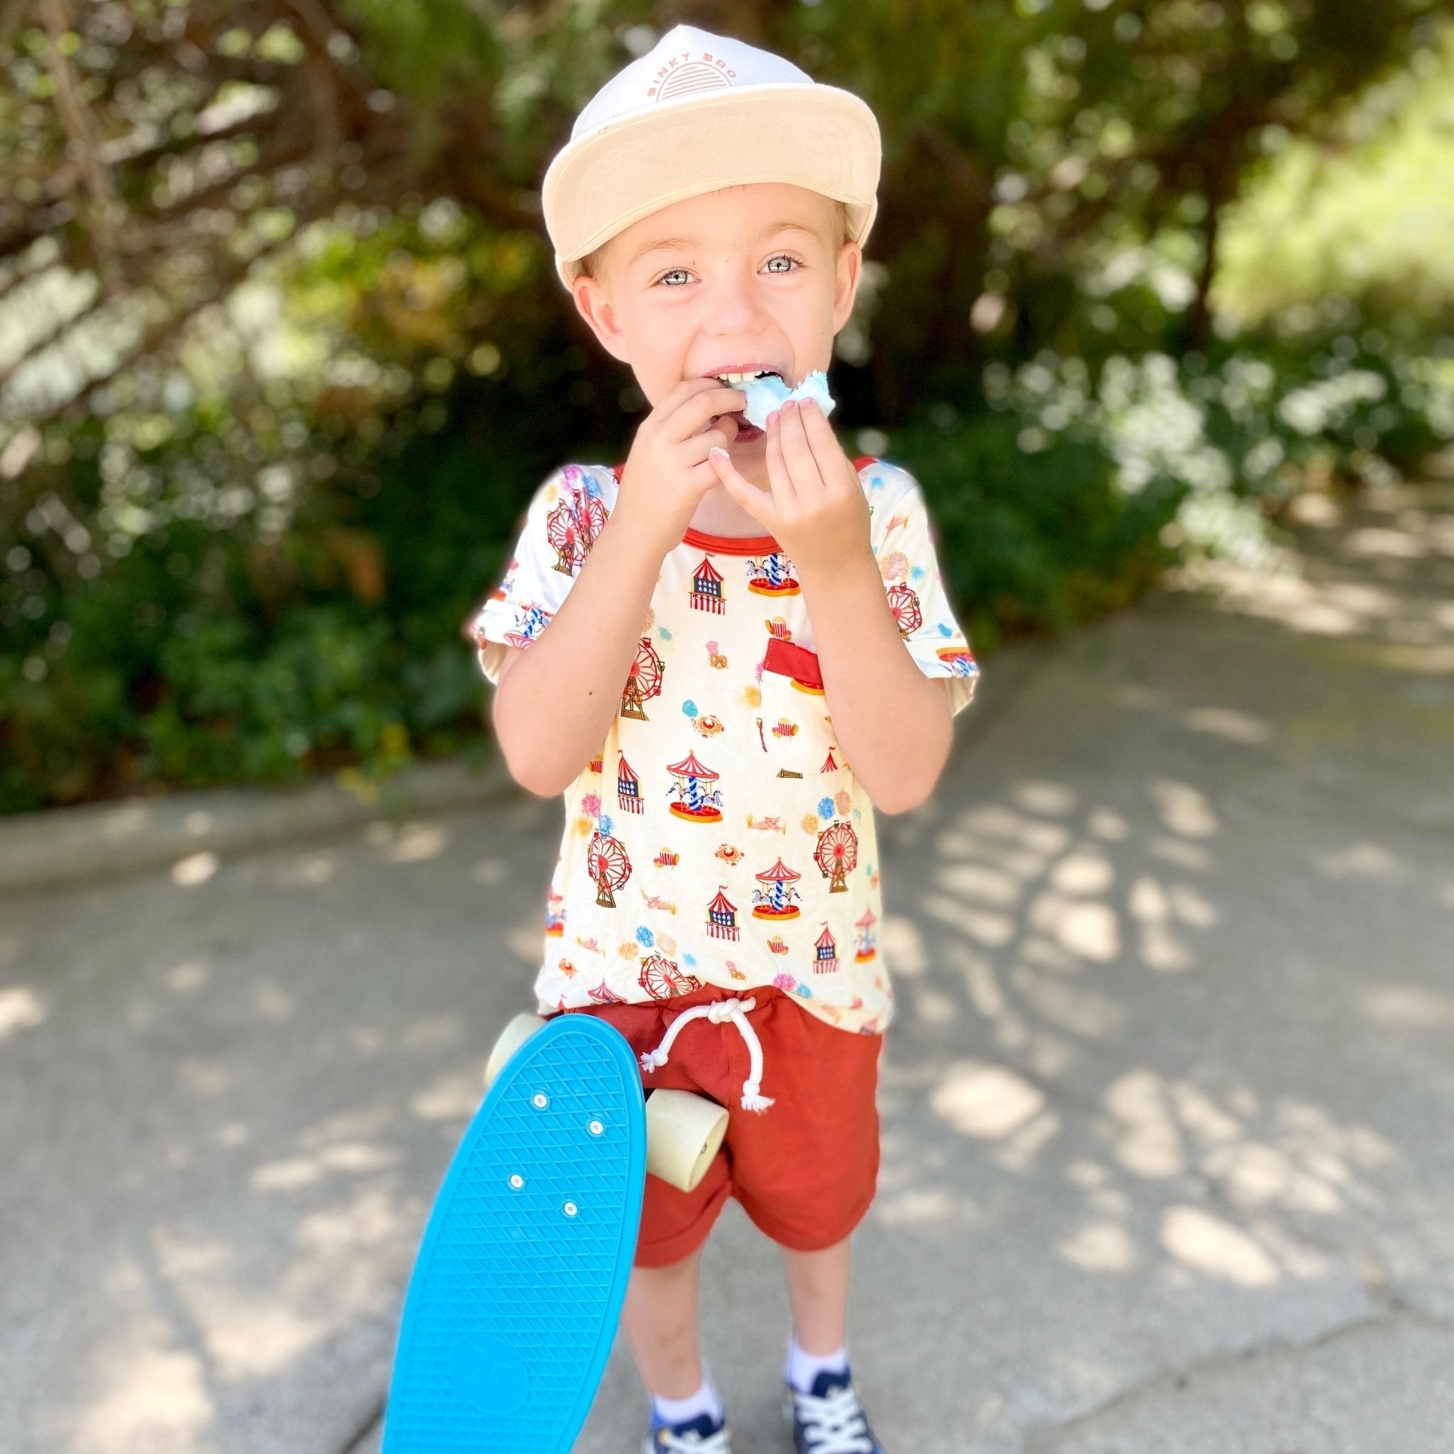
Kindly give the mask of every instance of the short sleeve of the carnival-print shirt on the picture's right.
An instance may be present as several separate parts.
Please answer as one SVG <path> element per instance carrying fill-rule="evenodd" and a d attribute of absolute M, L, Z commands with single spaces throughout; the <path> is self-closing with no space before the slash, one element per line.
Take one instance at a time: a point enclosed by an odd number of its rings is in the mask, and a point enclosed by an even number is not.
<path fill-rule="evenodd" d="M 957 715 L 974 699 L 980 667 L 944 589 L 923 491 L 907 470 L 884 461 L 869 464 L 864 477 L 888 608 L 909 654 L 925 676 L 944 680 L 949 714 Z"/>

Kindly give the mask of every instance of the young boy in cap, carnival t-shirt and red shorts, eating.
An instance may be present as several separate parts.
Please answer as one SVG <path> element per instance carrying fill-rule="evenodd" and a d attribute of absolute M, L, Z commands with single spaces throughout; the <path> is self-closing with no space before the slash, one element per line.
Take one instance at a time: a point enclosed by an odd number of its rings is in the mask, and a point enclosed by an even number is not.
<path fill-rule="evenodd" d="M 916 481 L 744 382 L 826 369 L 875 212 L 856 96 L 676 26 L 586 106 L 544 189 L 557 268 L 651 404 L 624 465 L 535 493 L 475 622 L 513 776 L 564 792 L 542 1013 L 603 1015 L 647 1089 L 726 1105 L 691 1194 L 647 1178 L 624 1323 L 647 1454 L 727 1454 L 698 1258 L 728 1197 L 782 1248 L 800 1454 L 883 1454 L 848 1365 L 893 990 L 874 808 L 925 801 L 979 672 Z"/>

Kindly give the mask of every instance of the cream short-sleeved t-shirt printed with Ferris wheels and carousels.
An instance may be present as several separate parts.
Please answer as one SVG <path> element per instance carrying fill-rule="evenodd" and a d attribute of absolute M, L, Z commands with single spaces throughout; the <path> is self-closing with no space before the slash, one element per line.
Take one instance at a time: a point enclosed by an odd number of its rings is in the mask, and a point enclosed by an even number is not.
<path fill-rule="evenodd" d="M 856 464 L 904 646 L 958 712 L 979 666 L 919 484 Z M 560 609 L 618 471 L 567 464 L 535 491 L 474 621 L 490 682 Z M 541 1012 L 775 984 L 830 1025 L 878 1034 L 893 1015 L 878 880 L 872 804 L 833 733 L 792 561 L 772 537 L 688 529 L 662 563 L 606 740 L 566 790 Z"/>

